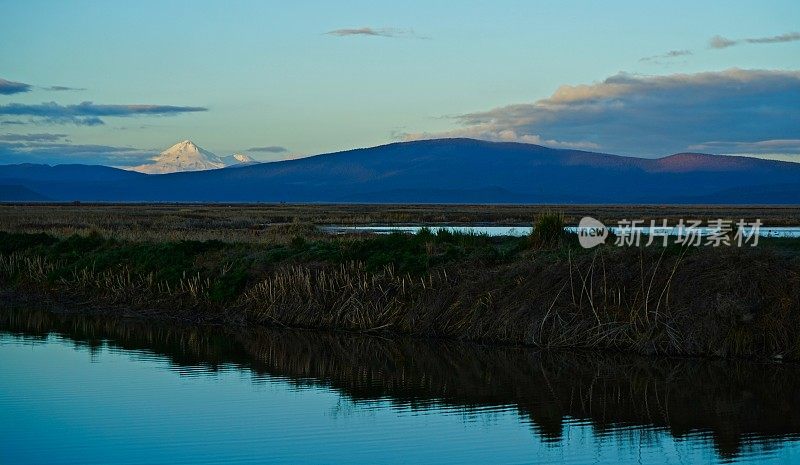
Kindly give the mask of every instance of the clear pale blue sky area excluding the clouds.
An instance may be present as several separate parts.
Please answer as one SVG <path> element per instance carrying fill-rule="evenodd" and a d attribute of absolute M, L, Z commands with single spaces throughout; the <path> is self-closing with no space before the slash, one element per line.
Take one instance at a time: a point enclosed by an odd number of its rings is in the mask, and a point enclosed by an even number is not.
<path fill-rule="evenodd" d="M 295 156 L 447 133 L 463 127 L 458 115 L 533 103 L 561 85 L 619 72 L 800 70 L 796 40 L 709 48 L 716 35 L 800 30 L 796 0 L 2 0 L 0 12 L 0 78 L 35 86 L 0 95 L 0 105 L 208 108 L 108 116 L 97 126 L 0 115 L 27 123 L 2 125 L 0 134 L 58 133 L 74 144 L 158 150 L 188 138 L 220 155 L 283 146 L 289 151 L 277 156 Z M 326 34 L 362 27 L 395 36 Z M 671 50 L 692 54 L 641 61 Z M 48 86 L 85 90 L 39 88 Z M 579 139 L 593 143 L 587 136 Z"/>

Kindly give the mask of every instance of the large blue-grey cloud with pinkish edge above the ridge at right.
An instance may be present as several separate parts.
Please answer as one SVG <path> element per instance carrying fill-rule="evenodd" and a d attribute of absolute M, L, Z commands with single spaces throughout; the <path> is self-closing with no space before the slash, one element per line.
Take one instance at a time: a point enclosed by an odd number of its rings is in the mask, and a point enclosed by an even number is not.
<path fill-rule="evenodd" d="M 460 128 L 418 137 L 540 141 L 556 147 L 656 156 L 707 141 L 797 139 L 800 71 L 619 73 L 562 86 L 548 98 L 454 118 Z"/>

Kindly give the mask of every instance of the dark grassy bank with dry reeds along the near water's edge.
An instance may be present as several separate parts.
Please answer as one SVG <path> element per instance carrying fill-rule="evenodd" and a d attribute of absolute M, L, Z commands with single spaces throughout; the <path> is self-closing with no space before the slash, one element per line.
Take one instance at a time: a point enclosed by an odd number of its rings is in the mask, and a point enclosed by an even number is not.
<path fill-rule="evenodd" d="M 0 232 L 0 289 L 193 322 L 800 358 L 800 255 L 791 249 L 585 250 L 558 218 L 539 222 L 548 226 L 538 247 L 446 231 L 272 244 Z"/>

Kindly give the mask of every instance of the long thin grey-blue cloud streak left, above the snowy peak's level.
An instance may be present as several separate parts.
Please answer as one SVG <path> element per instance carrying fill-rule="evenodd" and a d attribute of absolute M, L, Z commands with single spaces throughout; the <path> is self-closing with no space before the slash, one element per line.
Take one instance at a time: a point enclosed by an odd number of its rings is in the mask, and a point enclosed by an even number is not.
<path fill-rule="evenodd" d="M 59 105 L 55 102 L 26 105 L 9 103 L 0 105 L 0 116 L 30 116 L 35 121 L 53 124 L 76 124 L 97 126 L 104 124 L 100 117 L 129 117 L 141 115 L 177 115 L 180 113 L 207 111 L 204 107 L 180 107 L 171 105 L 98 105 L 83 102 L 77 105 Z"/>

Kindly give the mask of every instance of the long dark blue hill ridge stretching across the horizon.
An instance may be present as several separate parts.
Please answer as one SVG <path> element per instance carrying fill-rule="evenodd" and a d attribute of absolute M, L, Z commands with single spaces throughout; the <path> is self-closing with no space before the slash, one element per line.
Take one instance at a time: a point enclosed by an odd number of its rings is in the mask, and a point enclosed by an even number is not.
<path fill-rule="evenodd" d="M 0 184 L 14 179 L 56 200 L 800 203 L 795 163 L 695 153 L 645 159 L 471 139 L 164 175 L 19 166 L 0 166 Z"/>

